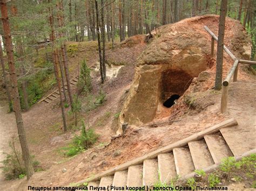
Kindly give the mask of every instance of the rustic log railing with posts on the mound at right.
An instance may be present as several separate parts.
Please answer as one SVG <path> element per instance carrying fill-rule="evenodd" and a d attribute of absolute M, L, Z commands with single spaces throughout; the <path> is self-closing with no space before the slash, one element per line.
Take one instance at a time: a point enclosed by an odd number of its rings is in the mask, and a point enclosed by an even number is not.
<path fill-rule="evenodd" d="M 218 38 L 215 34 L 208 29 L 207 26 L 204 26 L 204 29 L 212 36 L 211 40 L 211 58 L 214 56 L 214 41 L 218 41 Z M 227 98 L 228 98 L 228 84 L 230 84 L 231 78 L 233 76 L 233 82 L 237 81 L 238 74 L 238 65 L 239 63 L 247 63 L 250 65 L 256 65 L 256 61 L 250 60 L 241 60 L 237 59 L 234 54 L 224 45 L 224 51 L 230 55 L 230 57 L 234 60 L 233 66 L 230 69 L 230 72 L 227 74 L 226 79 L 222 83 L 222 94 L 221 94 L 221 104 L 220 104 L 220 112 L 223 114 L 227 110 Z"/>

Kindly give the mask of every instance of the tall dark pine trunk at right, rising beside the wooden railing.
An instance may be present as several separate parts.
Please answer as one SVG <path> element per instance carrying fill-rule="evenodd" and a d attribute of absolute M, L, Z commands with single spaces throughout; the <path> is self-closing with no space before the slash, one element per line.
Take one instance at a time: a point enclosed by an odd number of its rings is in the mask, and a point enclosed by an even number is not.
<path fill-rule="evenodd" d="M 215 76 L 215 87 L 214 87 L 215 90 L 221 89 L 226 13 L 227 13 L 227 0 L 221 0 L 218 45 L 217 45 L 217 60 L 216 60 L 216 76 Z"/>

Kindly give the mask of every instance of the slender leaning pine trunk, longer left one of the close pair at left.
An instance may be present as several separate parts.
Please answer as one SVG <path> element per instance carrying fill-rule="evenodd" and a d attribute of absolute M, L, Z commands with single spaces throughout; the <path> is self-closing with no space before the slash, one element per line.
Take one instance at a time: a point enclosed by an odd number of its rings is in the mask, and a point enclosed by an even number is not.
<path fill-rule="evenodd" d="M 48 0 L 48 3 L 50 3 L 50 1 L 51 0 Z M 50 28 L 51 28 L 50 38 L 51 38 L 51 43 L 52 43 L 53 67 L 54 67 L 55 78 L 56 78 L 57 85 L 58 85 L 60 108 L 62 109 L 62 121 L 63 121 L 63 127 L 64 127 L 64 132 L 65 132 L 67 130 L 66 117 L 65 117 L 65 110 L 64 110 L 64 105 L 63 105 L 63 101 L 62 101 L 62 89 L 61 89 L 59 73 L 58 73 L 58 59 L 57 59 L 58 51 L 57 51 L 57 48 L 55 45 L 55 30 L 53 27 L 53 13 L 52 13 L 51 7 L 49 7 L 49 13 L 50 13 L 49 24 L 50 24 Z"/>

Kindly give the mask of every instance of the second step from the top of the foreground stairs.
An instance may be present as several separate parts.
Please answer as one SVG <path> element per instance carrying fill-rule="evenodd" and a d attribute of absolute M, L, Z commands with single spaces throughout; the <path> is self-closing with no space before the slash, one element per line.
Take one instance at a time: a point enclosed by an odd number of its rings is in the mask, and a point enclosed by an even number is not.
<path fill-rule="evenodd" d="M 223 136 L 221 136 L 220 133 L 205 135 L 204 139 L 215 164 L 221 162 L 221 159 L 225 157 L 233 156 L 230 148 L 227 146 Z"/>

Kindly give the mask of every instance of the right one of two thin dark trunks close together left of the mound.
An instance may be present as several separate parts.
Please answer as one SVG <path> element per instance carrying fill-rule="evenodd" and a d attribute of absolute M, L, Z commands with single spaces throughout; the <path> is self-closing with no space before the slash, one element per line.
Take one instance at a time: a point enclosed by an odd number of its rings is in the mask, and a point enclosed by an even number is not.
<path fill-rule="evenodd" d="M 104 74 L 104 80 L 106 79 L 106 64 L 105 64 L 105 19 L 104 19 L 104 0 L 102 0 L 102 66 L 103 66 L 103 74 Z"/>

